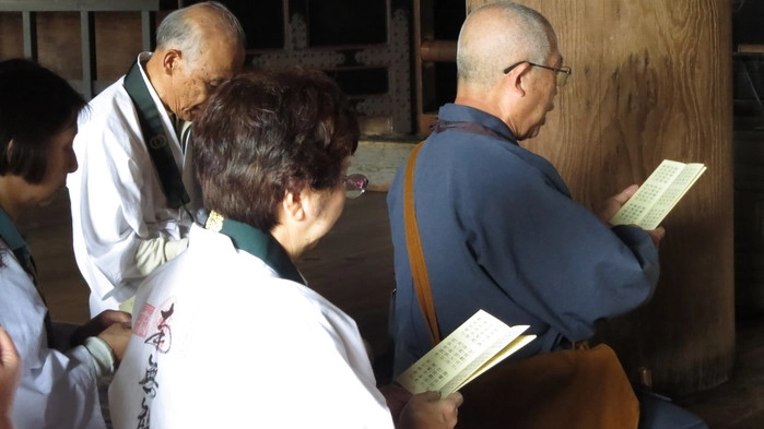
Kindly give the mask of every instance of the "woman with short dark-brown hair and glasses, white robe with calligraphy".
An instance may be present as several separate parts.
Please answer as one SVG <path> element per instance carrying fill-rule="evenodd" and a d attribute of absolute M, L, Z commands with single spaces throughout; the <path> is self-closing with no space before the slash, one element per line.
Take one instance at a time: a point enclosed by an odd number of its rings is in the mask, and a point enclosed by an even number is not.
<path fill-rule="evenodd" d="M 210 217 L 139 288 L 115 425 L 452 428 L 461 395 L 383 394 L 355 322 L 294 265 L 367 184 L 348 174 L 359 123 L 337 84 L 303 70 L 236 76 L 193 132 Z"/>

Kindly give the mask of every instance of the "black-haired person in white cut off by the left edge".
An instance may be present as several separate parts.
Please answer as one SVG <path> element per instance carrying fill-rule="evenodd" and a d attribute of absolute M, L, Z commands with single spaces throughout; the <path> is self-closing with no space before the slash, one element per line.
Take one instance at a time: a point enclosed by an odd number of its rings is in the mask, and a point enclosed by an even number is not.
<path fill-rule="evenodd" d="M 77 169 L 72 142 L 84 106 L 54 72 L 28 60 L 0 62 L 0 325 L 24 362 L 12 413 L 24 429 L 105 428 L 98 382 L 111 377 L 130 336 L 130 315 L 121 311 L 75 330 L 52 323 L 14 225 Z"/>

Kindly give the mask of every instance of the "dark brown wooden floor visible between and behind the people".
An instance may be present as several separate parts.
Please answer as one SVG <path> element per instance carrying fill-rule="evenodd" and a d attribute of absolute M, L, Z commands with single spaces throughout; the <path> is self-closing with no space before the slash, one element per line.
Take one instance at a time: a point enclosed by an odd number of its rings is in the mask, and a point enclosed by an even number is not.
<path fill-rule="evenodd" d="M 334 229 L 298 264 L 314 289 L 355 318 L 375 350 L 386 344 L 393 287 L 385 196 L 369 192 L 349 201 Z M 51 205 L 24 213 L 20 219 L 51 315 L 83 322 L 89 289 L 74 264 L 70 223 L 66 191 Z M 729 382 L 678 402 L 712 429 L 764 428 L 764 319 L 738 322 L 737 365 Z"/>

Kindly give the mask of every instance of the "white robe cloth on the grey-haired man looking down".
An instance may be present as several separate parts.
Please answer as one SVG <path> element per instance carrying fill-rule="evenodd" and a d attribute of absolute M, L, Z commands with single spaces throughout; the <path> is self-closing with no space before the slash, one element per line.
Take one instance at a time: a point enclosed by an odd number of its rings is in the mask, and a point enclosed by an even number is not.
<path fill-rule="evenodd" d="M 143 262 L 149 265 L 137 266 L 139 247 L 151 248 L 142 245 L 144 240 L 180 239 L 192 219 L 166 205 L 122 80 L 102 92 L 90 106 L 80 117 L 74 139 L 80 168 L 68 176 L 67 187 L 74 255 L 92 290 L 91 313 L 95 315 L 132 297 L 144 272 L 161 264 L 162 260 L 146 258 Z M 164 115 L 162 119 L 172 129 Z M 168 134 L 171 148 L 181 165 L 180 145 L 174 135 Z M 160 248 L 163 246 L 145 254 L 164 258 Z"/>

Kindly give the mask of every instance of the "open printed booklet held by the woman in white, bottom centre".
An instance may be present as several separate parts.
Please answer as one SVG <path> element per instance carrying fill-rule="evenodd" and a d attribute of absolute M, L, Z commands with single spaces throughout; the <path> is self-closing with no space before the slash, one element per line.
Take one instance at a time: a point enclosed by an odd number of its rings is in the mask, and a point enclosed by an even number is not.
<path fill-rule="evenodd" d="M 527 329 L 478 310 L 396 381 L 414 394 L 435 391 L 446 396 L 536 338 L 521 335 Z"/>

